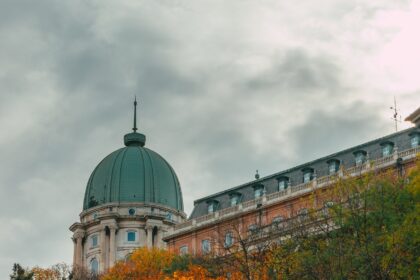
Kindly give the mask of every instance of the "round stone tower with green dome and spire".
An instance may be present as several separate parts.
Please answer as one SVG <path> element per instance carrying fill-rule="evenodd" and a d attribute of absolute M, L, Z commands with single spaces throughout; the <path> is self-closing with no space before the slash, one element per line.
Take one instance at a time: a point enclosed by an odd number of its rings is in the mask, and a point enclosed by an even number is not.
<path fill-rule="evenodd" d="M 133 132 L 125 147 L 106 156 L 86 186 L 80 222 L 74 223 L 73 265 L 103 272 L 135 248 L 165 248 L 162 237 L 185 220 L 181 187 L 169 163 Z"/>

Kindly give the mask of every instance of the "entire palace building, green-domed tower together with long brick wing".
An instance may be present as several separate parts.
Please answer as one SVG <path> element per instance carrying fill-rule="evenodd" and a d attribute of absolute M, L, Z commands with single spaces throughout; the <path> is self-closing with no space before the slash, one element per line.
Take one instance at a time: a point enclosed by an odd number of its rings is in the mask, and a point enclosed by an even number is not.
<path fill-rule="evenodd" d="M 93 272 L 105 271 L 138 247 L 223 254 L 238 233 L 252 234 L 261 226 L 285 229 L 308 209 L 327 207 L 332 201 L 326 190 L 338 178 L 390 168 L 404 174 L 420 153 L 419 108 L 406 119 L 412 128 L 263 178 L 257 174 L 253 181 L 197 199 L 187 219 L 175 171 L 145 148 L 134 105 L 133 132 L 124 136 L 125 147 L 93 170 L 80 222 L 70 227 L 73 264 Z"/>

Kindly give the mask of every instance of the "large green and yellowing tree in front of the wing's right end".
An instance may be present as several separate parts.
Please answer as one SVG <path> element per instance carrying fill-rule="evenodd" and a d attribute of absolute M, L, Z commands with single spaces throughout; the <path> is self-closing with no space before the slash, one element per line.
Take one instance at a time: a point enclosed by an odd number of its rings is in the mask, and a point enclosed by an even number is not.
<path fill-rule="evenodd" d="M 419 164 L 408 178 L 390 170 L 338 181 L 328 209 L 314 208 L 272 250 L 281 279 L 417 279 Z M 327 211 L 325 211 L 327 210 Z M 296 219 L 295 219 L 296 220 Z"/>

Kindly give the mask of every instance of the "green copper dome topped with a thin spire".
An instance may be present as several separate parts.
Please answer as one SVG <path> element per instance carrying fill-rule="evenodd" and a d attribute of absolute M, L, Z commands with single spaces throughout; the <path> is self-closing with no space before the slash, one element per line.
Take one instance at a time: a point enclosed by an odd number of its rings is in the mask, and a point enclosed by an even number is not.
<path fill-rule="evenodd" d="M 145 148 L 146 136 L 136 132 L 136 106 L 134 101 L 134 127 L 124 136 L 126 147 L 105 157 L 90 175 L 84 210 L 112 202 L 143 202 L 183 211 L 175 171 L 158 153 Z"/>

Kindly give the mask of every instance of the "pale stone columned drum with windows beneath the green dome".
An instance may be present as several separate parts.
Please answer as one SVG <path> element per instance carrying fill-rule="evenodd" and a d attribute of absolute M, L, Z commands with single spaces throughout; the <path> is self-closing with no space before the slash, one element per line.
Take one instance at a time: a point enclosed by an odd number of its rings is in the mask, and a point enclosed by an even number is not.
<path fill-rule="evenodd" d="M 166 248 L 163 237 L 185 213 L 158 204 L 108 203 L 83 211 L 74 223 L 75 266 L 103 272 L 138 247 Z"/>

